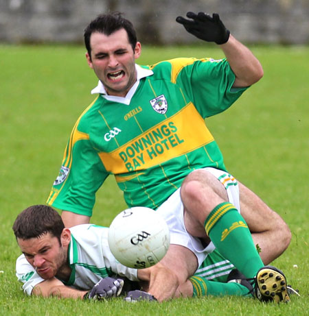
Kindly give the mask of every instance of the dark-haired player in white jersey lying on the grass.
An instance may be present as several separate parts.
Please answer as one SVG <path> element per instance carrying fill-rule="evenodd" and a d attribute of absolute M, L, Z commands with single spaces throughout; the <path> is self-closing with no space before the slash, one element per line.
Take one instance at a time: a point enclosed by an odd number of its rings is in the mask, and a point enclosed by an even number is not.
<path fill-rule="evenodd" d="M 181 287 L 175 282 L 172 271 L 160 263 L 148 269 L 125 267 L 115 260 L 108 248 L 108 228 L 91 224 L 65 228 L 58 212 L 50 206 L 26 208 L 14 221 L 13 230 L 23 252 L 16 260 L 16 276 L 28 295 L 100 299 L 122 293 L 128 301 L 160 301 L 166 287 L 174 291 L 174 297 L 254 297 L 258 293 L 255 292 L 258 289 L 242 280 L 243 276 L 216 251 L 207 256 L 200 271 Z M 203 278 L 205 271 L 211 280 Z M 154 280 L 160 282 L 162 288 L 152 288 Z M 201 280 L 203 287 L 198 286 Z M 286 280 L 282 277 L 273 284 L 286 287 Z"/>

